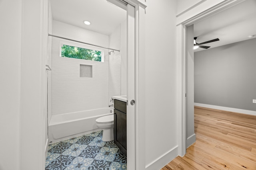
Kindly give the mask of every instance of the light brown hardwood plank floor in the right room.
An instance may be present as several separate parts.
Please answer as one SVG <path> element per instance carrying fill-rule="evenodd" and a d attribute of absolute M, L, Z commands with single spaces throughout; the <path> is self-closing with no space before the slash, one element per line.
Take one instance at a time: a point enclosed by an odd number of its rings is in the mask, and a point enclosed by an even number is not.
<path fill-rule="evenodd" d="M 196 143 L 161 170 L 256 170 L 256 116 L 194 110 Z"/>

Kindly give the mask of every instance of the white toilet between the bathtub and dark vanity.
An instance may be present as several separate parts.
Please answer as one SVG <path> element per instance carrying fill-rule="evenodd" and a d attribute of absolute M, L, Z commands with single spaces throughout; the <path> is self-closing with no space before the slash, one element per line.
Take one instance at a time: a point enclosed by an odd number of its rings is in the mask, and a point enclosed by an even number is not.
<path fill-rule="evenodd" d="M 96 119 L 96 125 L 103 129 L 102 141 L 114 140 L 114 114 Z"/>

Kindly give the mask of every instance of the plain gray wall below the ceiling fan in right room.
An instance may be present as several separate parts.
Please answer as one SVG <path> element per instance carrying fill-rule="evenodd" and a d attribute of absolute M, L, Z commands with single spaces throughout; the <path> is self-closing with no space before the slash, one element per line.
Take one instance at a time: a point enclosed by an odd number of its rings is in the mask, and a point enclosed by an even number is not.
<path fill-rule="evenodd" d="M 194 53 L 195 103 L 256 111 L 252 99 L 256 38 Z"/>

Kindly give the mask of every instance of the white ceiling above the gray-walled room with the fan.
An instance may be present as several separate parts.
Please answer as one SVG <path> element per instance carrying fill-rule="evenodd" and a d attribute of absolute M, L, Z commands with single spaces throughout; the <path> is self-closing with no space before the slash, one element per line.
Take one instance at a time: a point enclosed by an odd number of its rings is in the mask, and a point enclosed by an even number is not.
<path fill-rule="evenodd" d="M 256 0 L 245 0 L 214 16 L 194 23 L 196 42 L 202 43 L 219 38 L 220 41 L 204 44 L 209 49 L 248 40 L 249 35 L 256 37 Z M 196 51 L 205 50 L 198 48 Z"/>

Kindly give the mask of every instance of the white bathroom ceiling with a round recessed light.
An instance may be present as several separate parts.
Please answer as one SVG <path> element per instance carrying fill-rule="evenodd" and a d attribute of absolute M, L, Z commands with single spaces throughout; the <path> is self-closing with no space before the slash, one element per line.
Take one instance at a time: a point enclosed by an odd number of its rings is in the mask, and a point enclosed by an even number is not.
<path fill-rule="evenodd" d="M 50 0 L 53 20 L 110 35 L 126 20 L 126 11 L 106 0 Z M 84 20 L 91 22 L 85 25 Z"/>

